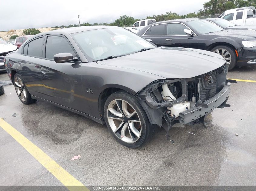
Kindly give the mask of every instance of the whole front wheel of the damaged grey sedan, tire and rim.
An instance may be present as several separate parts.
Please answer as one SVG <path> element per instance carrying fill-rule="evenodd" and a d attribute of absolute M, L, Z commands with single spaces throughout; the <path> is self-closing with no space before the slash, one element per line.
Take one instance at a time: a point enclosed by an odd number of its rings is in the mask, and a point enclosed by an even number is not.
<path fill-rule="evenodd" d="M 125 91 L 111 94 L 105 102 L 104 118 L 109 131 L 121 145 L 137 148 L 147 142 L 150 133 L 148 117 L 131 94 Z"/>

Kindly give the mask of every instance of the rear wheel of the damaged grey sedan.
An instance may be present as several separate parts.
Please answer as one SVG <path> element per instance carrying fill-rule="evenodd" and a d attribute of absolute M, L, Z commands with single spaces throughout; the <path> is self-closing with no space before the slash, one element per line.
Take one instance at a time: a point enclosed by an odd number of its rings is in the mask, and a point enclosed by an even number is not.
<path fill-rule="evenodd" d="M 13 77 L 13 82 L 14 82 L 13 84 L 15 87 L 15 91 L 22 103 L 28 105 L 31 103 L 35 103 L 37 101 L 31 98 L 31 95 L 29 94 L 28 89 L 24 85 L 21 75 L 16 73 Z"/>

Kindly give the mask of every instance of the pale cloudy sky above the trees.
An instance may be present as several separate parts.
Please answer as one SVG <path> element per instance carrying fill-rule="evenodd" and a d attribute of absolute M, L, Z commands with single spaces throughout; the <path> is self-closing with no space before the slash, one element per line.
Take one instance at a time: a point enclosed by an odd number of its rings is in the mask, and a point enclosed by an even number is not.
<path fill-rule="evenodd" d="M 0 31 L 54 27 L 80 23 L 111 23 L 120 15 L 146 18 L 155 14 L 187 14 L 203 8 L 207 0 L 1 0 Z"/>

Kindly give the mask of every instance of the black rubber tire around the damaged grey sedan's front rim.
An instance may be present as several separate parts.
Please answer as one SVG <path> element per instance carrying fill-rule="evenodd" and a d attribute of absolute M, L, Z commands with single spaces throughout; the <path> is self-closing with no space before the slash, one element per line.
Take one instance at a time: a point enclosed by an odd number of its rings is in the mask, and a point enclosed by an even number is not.
<path fill-rule="evenodd" d="M 133 143 L 128 143 L 128 142 L 124 142 L 122 141 L 111 129 L 111 126 L 108 122 L 108 106 L 109 104 L 116 99 L 120 99 L 120 100 L 124 100 L 125 102 L 127 102 L 131 107 L 133 107 L 133 109 L 137 112 L 137 116 L 139 117 L 140 121 L 141 121 L 141 135 L 138 138 L 138 140 L 136 142 Z M 126 147 L 129 148 L 137 148 L 141 145 L 143 145 L 145 142 L 147 142 L 147 139 L 149 137 L 150 134 L 150 123 L 148 121 L 148 117 L 144 111 L 144 109 L 141 107 L 140 103 L 138 102 L 138 100 L 135 99 L 135 97 L 131 94 L 128 94 L 125 91 L 117 91 L 113 94 L 111 94 L 106 102 L 105 102 L 105 106 L 104 106 L 104 118 L 105 118 L 105 122 L 107 124 L 107 127 L 109 129 L 109 131 L 111 132 L 111 134 L 115 137 L 115 139 L 121 144 L 124 145 Z M 128 119 L 128 118 L 127 118 Z M 126 120 L 127 120 L 126 119 Z M 121 129 L 121 128 L 120 128 Z M 129 128 L 127 128 L 128 130 L 130 130 Z M 128 135 L 129 136 L 129 135 Z"/>

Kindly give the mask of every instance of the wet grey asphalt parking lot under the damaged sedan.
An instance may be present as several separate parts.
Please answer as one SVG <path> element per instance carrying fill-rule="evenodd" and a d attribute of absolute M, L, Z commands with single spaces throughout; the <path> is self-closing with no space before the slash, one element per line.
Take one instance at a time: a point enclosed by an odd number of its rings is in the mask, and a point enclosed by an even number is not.
<path fill-rule="evenodd" d="M 256 66 L 235 68 L 228 78 L 256 81 Z M 8 80 L 0 74 L 0 81 Z M 175 124 L 170 130 L 174 144 L 164 129 L 155 129 L 137 149 L 120 145 L 105 125 L 42 101 L 24 105 L 13 85 L 4 88 L 0 117 L 86 186 L 256 186 L 254 82 L 232 84 L 231 107 L 208 115 L 207 129 Z M 62 185 L 2 128 L 0 140 L 0 185 Z M 71 160 L 76 155 L 81 157 Z"/>

